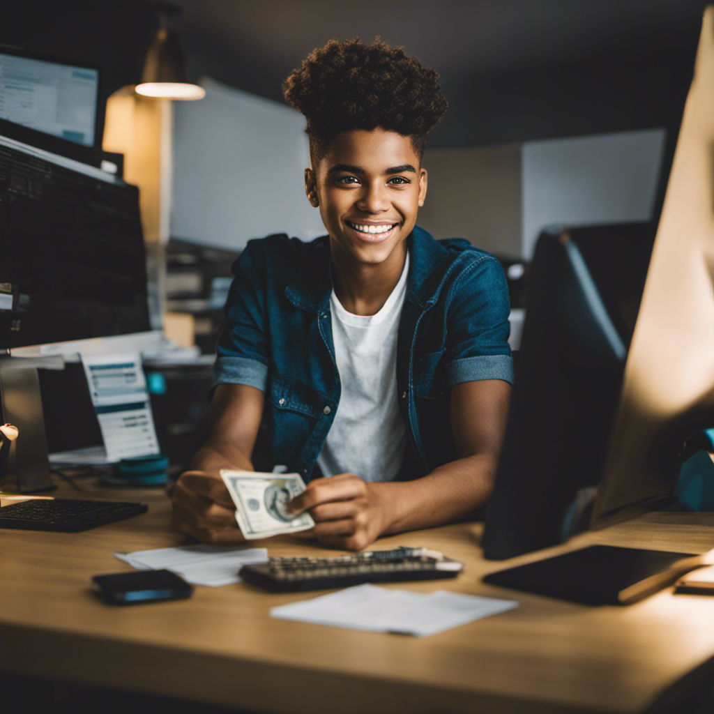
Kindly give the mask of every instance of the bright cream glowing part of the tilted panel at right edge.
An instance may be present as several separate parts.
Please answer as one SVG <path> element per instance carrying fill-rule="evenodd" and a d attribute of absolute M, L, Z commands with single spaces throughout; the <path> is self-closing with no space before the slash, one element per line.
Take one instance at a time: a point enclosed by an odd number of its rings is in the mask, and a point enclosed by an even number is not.
<path fill-rule="evenodd" d="M 625 371 L 625 403 L 665 419 L 714 401 L 713 36 L 710 7 Z"/>

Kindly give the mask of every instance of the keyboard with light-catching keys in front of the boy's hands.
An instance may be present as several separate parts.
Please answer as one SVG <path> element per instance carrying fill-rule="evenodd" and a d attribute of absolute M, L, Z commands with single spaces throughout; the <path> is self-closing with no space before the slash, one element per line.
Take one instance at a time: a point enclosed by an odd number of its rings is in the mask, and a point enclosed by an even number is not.
<path fill-rule="evenodd" d="M 428 548 L 393 548 L 336 558 L 268 558 L 243 565 L 238 575 L 273 593 L 347 588 L 360 583 L 455 578 L 463 563 Z"/>

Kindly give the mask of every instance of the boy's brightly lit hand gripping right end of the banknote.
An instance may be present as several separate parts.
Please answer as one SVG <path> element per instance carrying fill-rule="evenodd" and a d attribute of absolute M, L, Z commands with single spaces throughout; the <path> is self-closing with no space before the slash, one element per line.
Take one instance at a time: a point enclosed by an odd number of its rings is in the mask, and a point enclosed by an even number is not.
<path fill-rule="evenodd" d="M 293 498 L 288 510 L 308 511 L 315 521 L 315 528 L 299 535 L 313 535 L 333 548 L 362 550 L 383 533 L 388 523 L 381 485 L 366 483 L 353 473 L 316 478 Z"/>

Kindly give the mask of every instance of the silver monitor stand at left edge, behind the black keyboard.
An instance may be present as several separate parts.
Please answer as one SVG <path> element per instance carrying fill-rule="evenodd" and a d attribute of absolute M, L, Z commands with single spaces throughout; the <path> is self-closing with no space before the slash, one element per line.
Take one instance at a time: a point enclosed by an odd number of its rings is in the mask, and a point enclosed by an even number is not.
<path fill-rule="evenodd" d="M 21 493 L 55 488 L 47 458 L 39 368 L 64 369 L 64 360 L 59 356 L 0 356 L 0 418 L 19 431 L 11 442 L 7 473 L 0 473 L 0 477 L 14 476 Z"/>

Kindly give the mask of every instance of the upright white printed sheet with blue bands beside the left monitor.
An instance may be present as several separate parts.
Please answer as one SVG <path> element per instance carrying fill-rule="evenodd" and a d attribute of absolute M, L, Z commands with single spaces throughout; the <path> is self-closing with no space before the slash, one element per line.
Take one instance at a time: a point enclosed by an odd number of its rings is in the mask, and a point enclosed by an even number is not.
<path fill-rule="evenodd" d="M 139 353 L 82 355 L 107 461 L 159 453 Z"/>

